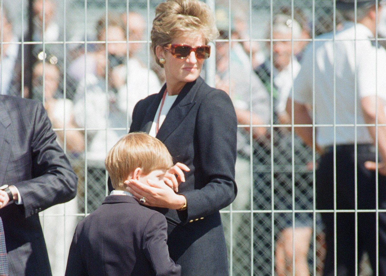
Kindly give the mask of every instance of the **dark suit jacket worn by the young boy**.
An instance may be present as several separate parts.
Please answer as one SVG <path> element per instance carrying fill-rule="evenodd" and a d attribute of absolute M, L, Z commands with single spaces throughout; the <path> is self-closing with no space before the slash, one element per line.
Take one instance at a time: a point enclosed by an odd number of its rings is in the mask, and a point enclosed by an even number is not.
<path fill-rule="evenodd" d="M 129 195 L 109 195 L 76 227 L 66 275 L 181 275 L 166 239 L 164 215 Z"/>

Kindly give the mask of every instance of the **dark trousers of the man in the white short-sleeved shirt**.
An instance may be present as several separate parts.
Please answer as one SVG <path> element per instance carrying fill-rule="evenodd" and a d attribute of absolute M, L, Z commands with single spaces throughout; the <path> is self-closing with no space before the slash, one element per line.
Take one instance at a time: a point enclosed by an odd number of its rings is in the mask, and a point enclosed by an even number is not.
<path fill-rule="evenodd" d="M 357 159 L 357 182 L 355 180 L 355 159 Z M 358 263 L 367 252 L 373 274 L 386 275 L 386 213 L 360 212 L 360 210 L 386 209 L 386 177 L 379 175 L 378 193 L 376 192 L 376 174 L 364 167 L 364 162 L 375 161 L 375 147 L 358 145 L 357 158 L 354 145 L 337 146 L 336 150 L 336 208 L 337 210 L 354 210 L 357 199 L 357 237 L 355 229 L 355 212 L 337 212 L 336 231 L 334 213 L 323 212 L 322 220 L 326 234 L 326 257 L 324 275 L 334 275 L 334 249 L 336 235 L 336 269 L 337 275 L 355 274 L 355 254 Z M 355 186 L 357 183 L 357 196 Z M 318 210 L 334 210 L 334 151 L 330 148 L 320 160 L 316 173 L 316 203 Z M 378 240 L 377 240 L 378 229 Z M 356 248 L 357 241 L 357 248 Z M 376 245 L 378 243 L 378 257 Z"/>

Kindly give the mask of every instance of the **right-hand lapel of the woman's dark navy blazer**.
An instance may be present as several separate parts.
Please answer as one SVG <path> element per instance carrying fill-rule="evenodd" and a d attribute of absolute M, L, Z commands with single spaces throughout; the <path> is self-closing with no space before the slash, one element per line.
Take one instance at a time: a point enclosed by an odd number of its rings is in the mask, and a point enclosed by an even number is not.
<path fill-rule="evenodd" d="M 176 101 L 173 103 L 161 128 L 157 133 L 157 138 L 165 141 L 166 138 L 182 123 L 190 109 L 194 106 L 194 98 L 198 87 L 203 80 L 198 77 L 196 81 L 188 82 L 178 94 Z"/>

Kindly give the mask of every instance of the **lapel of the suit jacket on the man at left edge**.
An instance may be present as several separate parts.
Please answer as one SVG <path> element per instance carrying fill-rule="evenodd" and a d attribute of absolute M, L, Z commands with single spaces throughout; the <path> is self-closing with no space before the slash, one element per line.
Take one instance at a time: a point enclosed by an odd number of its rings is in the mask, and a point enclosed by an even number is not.
<path fill-rule="evenodd" d="M 0 183 L 3 183 L 5 177 L 5 171 L 9 157 L 11 154 L 11 148 L 8 141 L 6 141 L 7 133 L 10 130 L 11 119 L 7 112 L 7 108 L 3 101 L 0 99 Z"/>

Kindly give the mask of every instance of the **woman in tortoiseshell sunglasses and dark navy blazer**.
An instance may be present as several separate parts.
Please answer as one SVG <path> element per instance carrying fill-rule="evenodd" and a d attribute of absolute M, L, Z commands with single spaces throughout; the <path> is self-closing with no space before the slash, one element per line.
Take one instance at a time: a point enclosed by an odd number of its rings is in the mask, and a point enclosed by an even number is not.
<path fill-rule="evenodd" d="M 183 181 L 178 194 L 135 181 L 129 191 L 142 204 L 161 207 L 157 210 L 168 220 L 170 256 L 181 265 L 182 275 L 228 274 L 219 210 L 237 192 L 237 120 L 229 96 L 200 77 L 210 55 L 207 43 L 217 36 L 213 13 L 203 2 L 168 0 L 157 6 L 152 49 L 165 69 L 166 84 L 137 103 L 130 126 L 130 132 L 156 136 L 180 162 L 171 170 Z"/>

